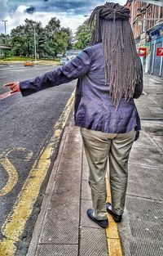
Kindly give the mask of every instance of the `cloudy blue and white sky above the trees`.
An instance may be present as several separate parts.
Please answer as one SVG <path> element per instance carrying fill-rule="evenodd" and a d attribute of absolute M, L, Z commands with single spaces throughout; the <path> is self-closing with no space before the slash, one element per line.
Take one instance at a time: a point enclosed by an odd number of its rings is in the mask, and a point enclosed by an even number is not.
<path fill-rule="evenodd" d="M 51 17 L 57 17 L 63 27 L 69 27 L 75 33 L 78 25 L 86 20 L 86 15 L 104 0 L 0 0 L 0 33 L 4 33 L 7 20 L 7 34 L 17 25 L 24 24 L 24 19 L 42 21 L 45 26 Z M 121 5 L 126 0 L 112 0 Z"/>

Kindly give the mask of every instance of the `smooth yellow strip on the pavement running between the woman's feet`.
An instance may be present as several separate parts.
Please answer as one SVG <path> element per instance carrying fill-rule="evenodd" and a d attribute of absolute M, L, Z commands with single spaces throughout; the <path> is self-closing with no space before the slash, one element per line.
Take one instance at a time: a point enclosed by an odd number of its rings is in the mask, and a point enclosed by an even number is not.
<path fill-rule="evenodd" d="M 110 185 L 108 177 L 106 177 L 107 185 L 107 202 L 111 202 Z M 108 214 L 109 225 L 106 228 L 108 255 L 109 256 L 122 256 L 121 240 L 118 232 L 117 223 L 114 222 L 112 216 Z"/>

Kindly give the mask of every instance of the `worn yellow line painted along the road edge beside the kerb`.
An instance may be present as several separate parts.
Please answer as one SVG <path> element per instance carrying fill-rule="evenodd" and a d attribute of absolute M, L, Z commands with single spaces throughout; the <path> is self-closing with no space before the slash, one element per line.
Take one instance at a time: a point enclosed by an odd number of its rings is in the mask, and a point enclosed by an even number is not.
<path fill-rule="evenodd" d="M 20 240 L 25 223 L 32 213 L 33 204 L 35 204 L 37 200 L 42 182 L 44 181 L 47 170 L 51 164 L 51 155 L 57 147 L 62 130 L 66 124 L 70 110 L 72 109 L 73 102 L 74 92 L 69 98 L 62 115 L 55 124 L 54 133 L 48 142 L 48 145 L 42 150 L 39 159 L 33 164 L 33 168 L 18 195 L 18 199 L 14 204 L 12 212 L 2 226 L 2 235 L 4 236 L 4 239 L 0 240 L 1 256 L 15 255 L 17 249 L 15 243 Z"/>

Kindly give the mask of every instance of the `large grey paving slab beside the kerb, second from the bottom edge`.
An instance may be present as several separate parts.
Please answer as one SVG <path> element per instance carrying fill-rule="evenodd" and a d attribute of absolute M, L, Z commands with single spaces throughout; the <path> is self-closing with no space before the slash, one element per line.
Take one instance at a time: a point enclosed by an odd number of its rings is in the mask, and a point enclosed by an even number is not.
<path fill-rule="evenodd" d="M 39 244 L 78 244 L 79 204 L 77 200 L 51 202 Z"/>

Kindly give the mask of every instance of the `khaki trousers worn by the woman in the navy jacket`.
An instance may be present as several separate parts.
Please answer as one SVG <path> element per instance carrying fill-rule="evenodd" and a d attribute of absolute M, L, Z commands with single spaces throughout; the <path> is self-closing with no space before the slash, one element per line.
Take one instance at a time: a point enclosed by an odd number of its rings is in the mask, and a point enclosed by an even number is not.
<path fill-rule="evenodd" d="M 128 159 L 134 142 L 134 129 L 126 133 L 107 133 L 81 128 L 90 168 L 89 183 L 95 218 L 107 218 L 105 175 L 109 163 L 112 212 L 121 215 L 126 201 Z"/>

